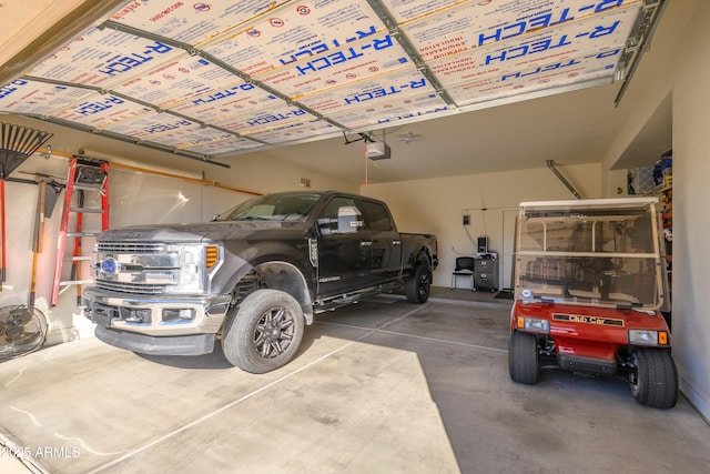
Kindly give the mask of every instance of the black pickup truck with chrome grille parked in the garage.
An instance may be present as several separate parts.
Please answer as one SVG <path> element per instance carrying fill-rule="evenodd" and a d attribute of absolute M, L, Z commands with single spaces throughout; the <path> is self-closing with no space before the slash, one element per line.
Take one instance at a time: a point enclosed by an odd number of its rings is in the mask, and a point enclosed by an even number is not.
<path fill-rule="evenodd" d="M 251 199 L 212 222 L 102 232 L 84 315 L 108 344 L 233 365 L 288 363 L 314 314 L 404 285 L 424 303 L 436 238 L 399 233 L 381 201 L 335 191 Z"/>

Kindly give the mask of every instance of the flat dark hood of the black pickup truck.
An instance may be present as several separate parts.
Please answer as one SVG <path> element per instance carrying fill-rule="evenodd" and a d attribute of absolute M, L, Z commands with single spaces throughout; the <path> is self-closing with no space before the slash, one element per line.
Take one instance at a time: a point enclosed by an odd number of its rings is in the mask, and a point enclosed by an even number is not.
<path fill-rule="evenodd" d="M 110 241 L 158 241 L 195 242 L 251 239 L 265 232 L 305 231 L 303 222 L 281 221 L 240 221 L 240 222 L 197 222 L 186 224 L 131 225 L 110 229 L 98 236 L 100 242 Z"/>

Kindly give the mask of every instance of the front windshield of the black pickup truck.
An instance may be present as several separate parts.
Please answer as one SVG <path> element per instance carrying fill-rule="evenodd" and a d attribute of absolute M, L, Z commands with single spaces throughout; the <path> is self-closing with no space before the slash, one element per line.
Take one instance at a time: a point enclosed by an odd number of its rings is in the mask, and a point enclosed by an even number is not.
<path fill-rule="evenodd" d="M 266 194 L 250 199 L 214 218 L 215 221 L 304 221 L 320 194 Z"/>

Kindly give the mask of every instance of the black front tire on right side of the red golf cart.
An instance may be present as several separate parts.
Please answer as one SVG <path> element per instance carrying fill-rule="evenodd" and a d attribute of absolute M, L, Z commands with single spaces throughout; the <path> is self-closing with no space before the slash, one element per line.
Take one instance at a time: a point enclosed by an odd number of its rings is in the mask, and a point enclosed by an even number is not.
<path fill-rule="evenodd" d="M 653 409 L 672 409 L 678 402 L 678 372 L 673 357 L 658 349 L 637 349 L 629 385 L 637 402 Z"/>

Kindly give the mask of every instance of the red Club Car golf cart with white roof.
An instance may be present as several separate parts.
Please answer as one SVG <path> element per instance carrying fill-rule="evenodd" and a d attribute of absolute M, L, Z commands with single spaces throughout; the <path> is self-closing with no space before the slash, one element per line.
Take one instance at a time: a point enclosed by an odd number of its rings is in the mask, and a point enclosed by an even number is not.
<path fill-rule="evenodd" d="M 636 400 L 678 399 L 656 198 L 520 203 L 509 372 L 625 376 Z"/>

